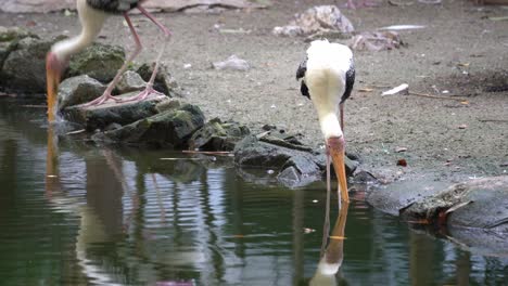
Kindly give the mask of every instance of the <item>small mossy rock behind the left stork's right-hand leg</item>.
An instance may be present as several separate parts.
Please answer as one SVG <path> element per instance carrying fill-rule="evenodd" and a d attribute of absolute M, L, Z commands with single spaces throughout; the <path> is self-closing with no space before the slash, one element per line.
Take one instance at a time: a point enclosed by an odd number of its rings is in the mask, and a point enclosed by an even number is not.
<path fill-rule="evenodd" d="M 153 83 L 153 88 L 162 92 L 169 98 L 181 98 L 182 91 L 178 83 L 176 82 L 175 78 L 168 72 L 168 67 L 164 64 L 158 66 L 157 75 L 155 76 L 155 82 Z M 138 69 L 137 73 L 141 76 L 144 81 L 149 81 L 150 77 L 152 76 L 153 66 L 148 64 L 142 64 Z"/>

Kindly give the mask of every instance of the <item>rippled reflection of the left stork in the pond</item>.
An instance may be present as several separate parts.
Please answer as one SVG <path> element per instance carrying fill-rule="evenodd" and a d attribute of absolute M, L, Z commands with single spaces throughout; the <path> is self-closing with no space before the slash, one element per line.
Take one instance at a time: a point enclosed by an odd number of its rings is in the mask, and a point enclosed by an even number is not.
<path fill-rule="evenodd" d="M 85 277 L 103 285 L 115 285 L 114 282 L 118 281 L 118 277 L 107 274 L 109 272 L 104 270 L 112 265 L 98 264 L 94 262 L 96 258 L 90 257 L 89 250 L 94 244 L 114 242 L 125 232 L 124 213 L 120 211 L 122 197 L 129 191 L 122 171 L 122 160 L 113 152 L 104 150 L 102 159 L 85 157 L 85 170 L 82 170 L 79 168 L 79 161 L 60 158 L 59 131 L 59 126 L 49 125 L 46 162 L 47 198 L 54 210 L 80 218 L 75 255 Z M 81 171 L 85 171 L 86 176 L 86 204 L 82 198 L 71 195 L 64 183 L 64 178 L 79 177 Z M 69 190 L 74 187 L 75 185 L 69 186 Z M 135 196 L 132 193 L 128 194 Z"/>

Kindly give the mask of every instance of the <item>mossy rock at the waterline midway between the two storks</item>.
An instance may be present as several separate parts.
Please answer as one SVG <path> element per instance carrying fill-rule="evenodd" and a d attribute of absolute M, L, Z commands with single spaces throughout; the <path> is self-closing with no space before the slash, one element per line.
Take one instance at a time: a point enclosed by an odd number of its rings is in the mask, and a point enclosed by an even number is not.
<path fill-rule="evenodd" d="M 246 126 L 238 122 L 221 122 L 214 118 L 206 122 L 189 140 L 191 150 L 232 151 L 236 144 L 250 134 Z"/>

